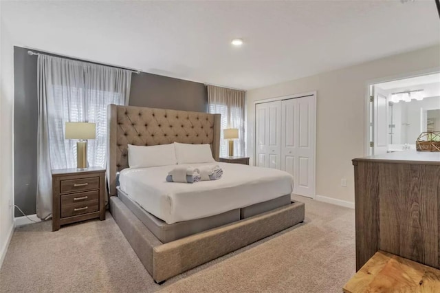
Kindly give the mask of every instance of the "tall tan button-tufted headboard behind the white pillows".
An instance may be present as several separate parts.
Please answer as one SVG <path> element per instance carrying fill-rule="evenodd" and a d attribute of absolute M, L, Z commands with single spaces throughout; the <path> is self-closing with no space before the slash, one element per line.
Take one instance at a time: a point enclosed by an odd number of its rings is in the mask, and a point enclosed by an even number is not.
<path fill-rule="evenodd" d="M 111 104 L 107 121 L 109 195 L 116 195 L 116 172 L 129 167 L 127 144 L 211 144 L 212 156 L 219 160 L 220 114 Z"/>

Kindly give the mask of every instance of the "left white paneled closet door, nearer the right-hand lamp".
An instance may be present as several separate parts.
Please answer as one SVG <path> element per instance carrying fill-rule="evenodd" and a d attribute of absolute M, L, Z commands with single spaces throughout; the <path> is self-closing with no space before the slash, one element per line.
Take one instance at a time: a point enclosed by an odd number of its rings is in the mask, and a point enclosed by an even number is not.
<path fill-rule="evenodd" d="M 281 169 L 281 101 L 255 108 L 255 166 Z"/>

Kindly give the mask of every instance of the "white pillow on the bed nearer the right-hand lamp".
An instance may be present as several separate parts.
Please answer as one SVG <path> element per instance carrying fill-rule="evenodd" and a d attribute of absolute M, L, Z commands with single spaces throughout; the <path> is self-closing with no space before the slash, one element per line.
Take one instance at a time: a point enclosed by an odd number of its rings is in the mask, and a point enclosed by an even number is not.
<path fill-rule="evenodd" d="M 212 163 L 211 146 L 209 144 L 180 144 L 175 142 L 177 164 Z"/>

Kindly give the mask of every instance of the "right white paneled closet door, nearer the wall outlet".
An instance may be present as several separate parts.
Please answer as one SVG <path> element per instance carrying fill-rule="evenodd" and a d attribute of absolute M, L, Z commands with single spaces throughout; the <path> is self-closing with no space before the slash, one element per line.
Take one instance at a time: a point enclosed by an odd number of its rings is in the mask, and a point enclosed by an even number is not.
<path fill-rule="evenodd" d="M 294 193 L 315 196 L 315 97 L 282 102 L 281 169 L 294 176 Z"/>

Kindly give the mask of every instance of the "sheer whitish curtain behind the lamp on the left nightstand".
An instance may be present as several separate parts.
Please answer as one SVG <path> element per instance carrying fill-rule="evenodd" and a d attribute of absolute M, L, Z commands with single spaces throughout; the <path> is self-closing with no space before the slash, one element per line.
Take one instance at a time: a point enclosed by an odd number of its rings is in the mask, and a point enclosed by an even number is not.
<path fill-rule="evenodd" d="M 105 167 L 107 105 L 128 105 L 131 72 L 125 69 L 38 56 L 36 215 L 52 215 L 52 169 L 76 168 L 76 141 L 65 140 L 65 122 L 96 123 L 89 140 L 90 166 Z"/>

